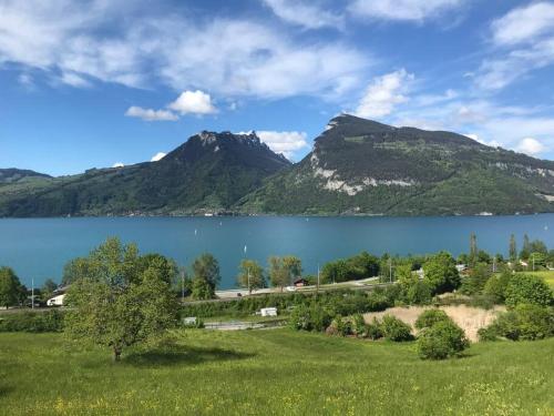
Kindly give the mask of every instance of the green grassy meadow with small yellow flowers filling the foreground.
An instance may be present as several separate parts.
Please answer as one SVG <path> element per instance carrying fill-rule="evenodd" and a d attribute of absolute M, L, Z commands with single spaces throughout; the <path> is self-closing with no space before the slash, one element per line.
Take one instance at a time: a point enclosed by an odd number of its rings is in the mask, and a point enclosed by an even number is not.
<path fill-rule="evenodd" d="M 178 333 L 171 352 L 68 349 L 0 334 L 2 415 L 552 415 L 554 338 L 475 344 L 423 362 L 414 344 L 290 329 Z"/>

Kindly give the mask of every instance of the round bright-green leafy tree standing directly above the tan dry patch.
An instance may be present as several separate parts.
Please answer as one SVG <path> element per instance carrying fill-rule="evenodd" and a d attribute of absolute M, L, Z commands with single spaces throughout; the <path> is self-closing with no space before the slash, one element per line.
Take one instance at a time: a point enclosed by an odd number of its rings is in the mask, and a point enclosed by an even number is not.
<path fill-rule="evenodd" d="M 460 274 L 454 258 L 447 252 L 440 252 L 423 264 L 424 281 L 433 294 L 453 291 L 460 286 Z"/>

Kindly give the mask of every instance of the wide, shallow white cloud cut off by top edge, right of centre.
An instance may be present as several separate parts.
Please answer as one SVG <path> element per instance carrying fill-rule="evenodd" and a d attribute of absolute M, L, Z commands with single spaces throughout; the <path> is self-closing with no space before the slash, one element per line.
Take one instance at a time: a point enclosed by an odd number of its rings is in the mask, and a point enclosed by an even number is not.
<path fill-rule="evenodd" d="M 384 20 L 423 21 L 462 6 L 465 0 L 355 0 L 355 16 Z"/>

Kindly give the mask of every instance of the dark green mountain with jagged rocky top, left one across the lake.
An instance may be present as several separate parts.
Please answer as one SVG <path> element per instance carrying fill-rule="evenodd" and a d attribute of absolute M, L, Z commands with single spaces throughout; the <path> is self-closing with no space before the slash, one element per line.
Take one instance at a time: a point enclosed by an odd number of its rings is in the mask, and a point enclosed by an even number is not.
<path fill-rule="evenodd" d="M 225 211 L 289 165 L 255 133 L 202 132 L 158 162 L 93 169 L 9 193 L 0 189 L 0 216 Z"/>

